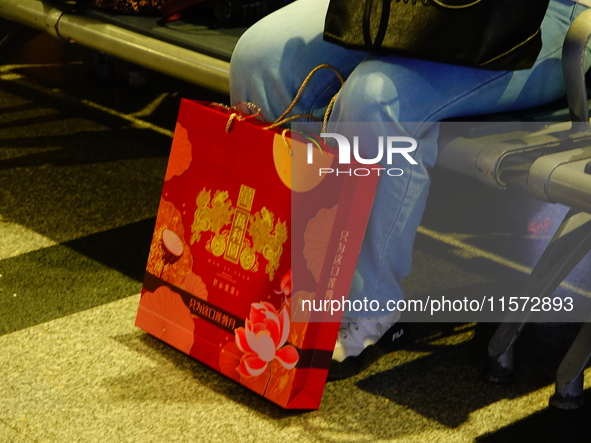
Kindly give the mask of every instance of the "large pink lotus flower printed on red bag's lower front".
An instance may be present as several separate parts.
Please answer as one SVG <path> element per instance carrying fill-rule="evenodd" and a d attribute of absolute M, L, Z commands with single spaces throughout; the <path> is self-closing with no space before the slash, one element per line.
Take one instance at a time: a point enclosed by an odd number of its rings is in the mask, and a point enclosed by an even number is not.
<path fill-rule="evenodd" d="M 238 373 L 247 377 L 260 375 L 273 360 L 285 369 L 293 369 L 299 355 L 295 347 L 285 344 L 290 323 L 285 306 L 277 312 L 271 303 L 253 303 L 244 327 L 235 330 L 236 345 L 244 353 L 236 368 Z"/>

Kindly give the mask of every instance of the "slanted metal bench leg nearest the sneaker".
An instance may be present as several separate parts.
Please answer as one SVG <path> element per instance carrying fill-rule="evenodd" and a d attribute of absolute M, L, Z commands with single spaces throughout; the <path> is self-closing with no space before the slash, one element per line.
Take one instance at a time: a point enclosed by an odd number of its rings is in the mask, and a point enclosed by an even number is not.
<path fill-rule="evenodd" d="M 522 296 L 546 297 L 558 287 L 591 249 L 591 215 L 570 210 L 529 276 Z M 514 378 L 513 347 L 528 312 L 507 315 L 488 346 L 486 378 L 495 383 Z"/>

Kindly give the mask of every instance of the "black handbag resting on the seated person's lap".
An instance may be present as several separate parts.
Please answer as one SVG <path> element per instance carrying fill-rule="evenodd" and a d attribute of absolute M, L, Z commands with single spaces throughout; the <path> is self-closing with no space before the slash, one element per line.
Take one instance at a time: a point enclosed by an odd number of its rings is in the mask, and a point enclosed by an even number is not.
<path fill-rule="evenodd" d="M 493 70 L 531 68 L 549 0 L 330 0 L 324 39 Z"/>

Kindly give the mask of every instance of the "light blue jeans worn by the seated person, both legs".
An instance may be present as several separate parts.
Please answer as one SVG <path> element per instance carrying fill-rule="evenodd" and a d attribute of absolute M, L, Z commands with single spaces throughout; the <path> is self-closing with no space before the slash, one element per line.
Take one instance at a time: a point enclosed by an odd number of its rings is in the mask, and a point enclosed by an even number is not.
<path fill-rule="evenodd" d="M 346 77 L 330 117 L 334 132 L 347 135 L 348 122 L 364 122 L 366 136 L 390 134 L 396 127 L 397 134 L 419 140 L 413 153 L 417 165 L 400 177 L 380 178 L 349 294 L 350 300 L 378 300 L 385 307 L 388 300 L 403 298 L 400 280 L 410 272 L 414 237 L 429 189 L 428 169 L 437 157 L 437 122 L 523 109 L 562 97 L 562 44 L 568 26 L 584 7 L 552 0 L 535 66 L 488 71 L 375 56 L 324 42 L 327 5 L 328 0 L 297 0 L 251 27 L 232 57 L 231 100 L 255 103 L 272 121 L 287 108 L 306 75 L 328 63 Z M 322 115 L 339 86 L 332 73 L 319 73 L 293 113 Z"/>

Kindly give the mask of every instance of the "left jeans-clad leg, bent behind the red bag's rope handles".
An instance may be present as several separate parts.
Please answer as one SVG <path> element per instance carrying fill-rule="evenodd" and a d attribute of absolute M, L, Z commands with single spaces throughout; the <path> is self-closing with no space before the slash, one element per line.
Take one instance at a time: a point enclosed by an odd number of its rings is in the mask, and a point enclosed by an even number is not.
<path fill-rule="evenodd" d="M 328 0 L 296 0 L 263 18 L 240 38 L 230 64 L 231 103 L 251 102 L 269 121 L 281 115 L 316 66 L 329 64 L 343 76 L 367 53 L 322 40 Z M 335 75 L 320 71 L 292 114 L 322 115 L 340 88 Z"/>

